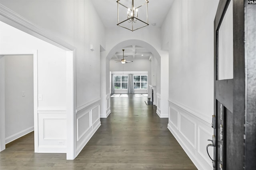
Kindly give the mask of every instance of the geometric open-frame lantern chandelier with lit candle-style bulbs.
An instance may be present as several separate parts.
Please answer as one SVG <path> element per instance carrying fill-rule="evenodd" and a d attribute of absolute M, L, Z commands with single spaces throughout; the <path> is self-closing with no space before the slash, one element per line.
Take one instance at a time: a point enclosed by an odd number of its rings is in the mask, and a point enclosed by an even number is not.
<path fill-rule="evenodd" d="M 135 0 L 135 3 L 132 0 L 132 4 L 130 0 L 117 0 L 116 2 L 118 26 L 135 31 L 149 25 L 148 0 Z"/>

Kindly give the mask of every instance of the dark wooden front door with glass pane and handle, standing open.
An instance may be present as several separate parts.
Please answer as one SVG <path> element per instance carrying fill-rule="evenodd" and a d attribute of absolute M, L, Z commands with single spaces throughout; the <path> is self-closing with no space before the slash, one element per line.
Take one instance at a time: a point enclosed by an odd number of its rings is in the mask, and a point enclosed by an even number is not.
<path fill-rule="evenodd" d="M 256 168 L 255 14 L 248 0 L 220 0 L 216 12 L 214 170 Z"/>

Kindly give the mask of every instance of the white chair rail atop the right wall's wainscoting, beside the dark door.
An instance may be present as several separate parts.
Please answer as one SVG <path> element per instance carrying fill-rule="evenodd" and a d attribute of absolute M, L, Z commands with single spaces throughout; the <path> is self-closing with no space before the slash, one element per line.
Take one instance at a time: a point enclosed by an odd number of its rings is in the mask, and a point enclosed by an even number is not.
<path fill-rule="evenodd" d="M 211 122 L 208 122 L 209 118 L 207 116 L 205 116 L 205 114 L 197 112 L 197 111 L 193 111 L 192 109 L 187 108 L 187 107 L 183 106 L 182 104 L 178 104 L 177 102 L 173 102 L 171 100 L 168 100 L 168 101 L 172 106 L 182 110 L 186 114 L 189 114 L 190 116 L 192 116 L 193 118 L 196 118 L 197 120 L 206 124 L 207 126 L 212 126 Z"/>

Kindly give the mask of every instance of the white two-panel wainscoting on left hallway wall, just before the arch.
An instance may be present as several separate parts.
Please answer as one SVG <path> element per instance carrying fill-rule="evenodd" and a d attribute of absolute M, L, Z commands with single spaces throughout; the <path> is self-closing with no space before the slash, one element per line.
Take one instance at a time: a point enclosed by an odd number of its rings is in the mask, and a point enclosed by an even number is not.
<path fill-rule="evenodd" d="M 100 127 L 100 100 L 76 111 L 76 156 Z"/>

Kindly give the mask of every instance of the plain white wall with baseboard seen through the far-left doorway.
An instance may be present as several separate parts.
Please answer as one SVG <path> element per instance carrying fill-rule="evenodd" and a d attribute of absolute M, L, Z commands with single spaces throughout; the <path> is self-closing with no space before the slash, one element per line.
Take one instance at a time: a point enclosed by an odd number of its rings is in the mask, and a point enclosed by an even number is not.
<path fill-rule="evenodd" d="M 5 56 L 5 142 L 34 130 L 33 56 Z"/>

